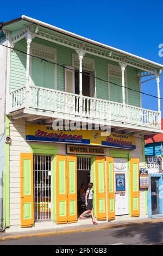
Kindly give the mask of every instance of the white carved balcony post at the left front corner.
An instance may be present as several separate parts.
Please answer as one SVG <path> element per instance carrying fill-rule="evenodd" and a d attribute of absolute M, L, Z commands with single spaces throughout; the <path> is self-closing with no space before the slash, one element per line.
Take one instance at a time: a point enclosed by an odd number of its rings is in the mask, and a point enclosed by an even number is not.
<path fill-rule="evenodd" d="M 30 68 L 30 44 L 33 40 L 33 36 L 28 32 L 26 35 L 27 40 L 27 60 L 26 60 L 26 99 L 25 99 L 25 107 L 26 109 L 29 109 L 30 105 L 30 84 L 29 84 L 29 68 Z"/>

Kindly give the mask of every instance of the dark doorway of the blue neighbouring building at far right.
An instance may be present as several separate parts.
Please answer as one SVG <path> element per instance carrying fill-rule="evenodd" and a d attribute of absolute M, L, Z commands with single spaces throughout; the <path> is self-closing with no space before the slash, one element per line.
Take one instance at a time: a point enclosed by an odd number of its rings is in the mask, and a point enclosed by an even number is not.
<path fill-rule="evenodd" d="M 159 178 L 151 177 L 151 204 L 152 215 L 159 214 Z"/>

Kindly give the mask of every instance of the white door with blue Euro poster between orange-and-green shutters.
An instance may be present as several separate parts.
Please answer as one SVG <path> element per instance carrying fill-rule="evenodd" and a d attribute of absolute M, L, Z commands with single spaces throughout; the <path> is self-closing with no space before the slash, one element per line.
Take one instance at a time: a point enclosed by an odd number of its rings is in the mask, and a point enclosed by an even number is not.
<path fill-rule="evenodd" d="M 114 159 L 115 215 L 128 214 L 127 160 Z"/>

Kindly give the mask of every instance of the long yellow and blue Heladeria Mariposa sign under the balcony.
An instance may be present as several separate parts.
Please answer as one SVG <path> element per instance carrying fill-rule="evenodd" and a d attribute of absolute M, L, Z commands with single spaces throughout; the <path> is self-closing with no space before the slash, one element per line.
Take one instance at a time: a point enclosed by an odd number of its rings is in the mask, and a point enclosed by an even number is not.
<path fill-rule="evenodd" d="M 96 130 L 54 131 L 50 125 L 26 125 L 27 141 L 86 144 L 114 148 L 135 149 L 135 137 L 116 132 Z"/>

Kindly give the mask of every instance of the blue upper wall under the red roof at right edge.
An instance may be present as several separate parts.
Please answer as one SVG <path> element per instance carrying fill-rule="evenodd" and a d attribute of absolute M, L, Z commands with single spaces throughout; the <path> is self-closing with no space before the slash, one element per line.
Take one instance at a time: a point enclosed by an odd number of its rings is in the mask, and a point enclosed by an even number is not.
<path fill-rule="evenodd" d="M 149 143 L 145 145 L 146 156 L 159 156 L 162 154 L 162 142 Z"/>

